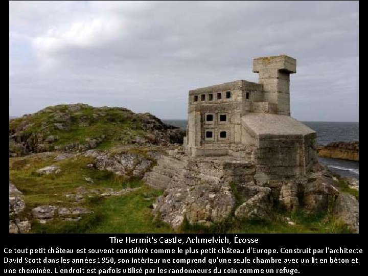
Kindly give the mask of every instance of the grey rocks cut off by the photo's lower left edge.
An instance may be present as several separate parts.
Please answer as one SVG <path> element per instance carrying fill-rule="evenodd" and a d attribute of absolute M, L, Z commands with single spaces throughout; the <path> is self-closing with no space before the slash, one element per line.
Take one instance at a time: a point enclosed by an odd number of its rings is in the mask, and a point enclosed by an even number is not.
<path fill-rule="evenodd" d="M 26 203 L 22 198 L 22 193 L 9 182 L 9 233 L 27 233 L 31 229 L 28 218 L 22 215 L 26 208 Z"/>

